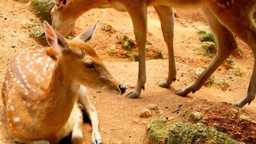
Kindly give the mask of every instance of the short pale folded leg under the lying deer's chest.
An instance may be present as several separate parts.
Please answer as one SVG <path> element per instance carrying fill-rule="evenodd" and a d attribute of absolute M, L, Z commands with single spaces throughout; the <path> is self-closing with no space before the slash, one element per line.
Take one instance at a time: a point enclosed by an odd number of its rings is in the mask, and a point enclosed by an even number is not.
<path fill-rule="evenodd" d="M 72 144 L 83 143 L 82 127 L 83 127 L 83 116 L 82 116 L 82 113 L 79 112 L 79 114 L 76 115 L 76 121 L 73 125 L 72 136 L 71 136 Z"/>

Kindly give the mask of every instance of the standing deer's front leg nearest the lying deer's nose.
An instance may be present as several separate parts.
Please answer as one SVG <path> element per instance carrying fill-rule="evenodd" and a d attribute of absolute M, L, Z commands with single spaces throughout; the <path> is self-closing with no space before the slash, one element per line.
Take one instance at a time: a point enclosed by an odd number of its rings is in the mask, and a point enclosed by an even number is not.
<path fill-rule="evenodd" d="M 139 76 L 136 88 L 129 93 L 127 98 L 138 98 L 141 89 L 146 83 L 146 40 L 147 40 L 147 7 L 146 3 L 138 2 L 139 4 L 130 4 L 127 10 L 132 18 L 134 34 L 138 45 L 139 52 Z M 134 6 L 136 5 L 136 6 Z"/>

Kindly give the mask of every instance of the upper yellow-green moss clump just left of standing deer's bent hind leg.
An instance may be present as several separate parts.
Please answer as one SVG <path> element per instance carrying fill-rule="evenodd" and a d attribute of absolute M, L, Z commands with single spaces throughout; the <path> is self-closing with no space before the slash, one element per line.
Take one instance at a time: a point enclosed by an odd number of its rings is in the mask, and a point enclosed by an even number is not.
<path fill-rule="evenodd" d="M 211 31 L 210 28 L 201 28 L 198 32 L 198 35 L 199 35 L 199 39 L 202 41 L 202 42 L 213 42 L 214 44 L 217 45 L 217 41 Z"/>

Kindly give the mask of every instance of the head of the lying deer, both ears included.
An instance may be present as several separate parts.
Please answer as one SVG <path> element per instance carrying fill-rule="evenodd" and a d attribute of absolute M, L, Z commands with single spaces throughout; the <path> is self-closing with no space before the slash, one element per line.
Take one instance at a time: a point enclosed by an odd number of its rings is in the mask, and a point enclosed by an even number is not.
<path fill-rule="evenodd" d="M 46 38 L 68 78 L 88 88 L 124 93 L 125 86 L 108 71 L 101 57 L 86 42 L 91 40 L 97 24 L 73 40 L 67 40 L 44 22 Z"/>

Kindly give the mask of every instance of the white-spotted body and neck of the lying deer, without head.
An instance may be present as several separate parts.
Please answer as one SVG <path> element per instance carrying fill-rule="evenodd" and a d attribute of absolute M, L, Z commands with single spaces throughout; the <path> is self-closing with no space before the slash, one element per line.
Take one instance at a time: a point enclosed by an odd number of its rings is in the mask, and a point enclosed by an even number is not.
<path fill-rule="evenodd" d="M 55 64 L 45 52 L 38 51 L 11 60 L 2 98 L 12 136 L 17 140 L 57 143 L 72 132 L 76 121 L 82 121 L 76 103 L 80 86 L 65 80 L 60 65 Z M 63 81 L 57 83 L 59 79 Z"/>

